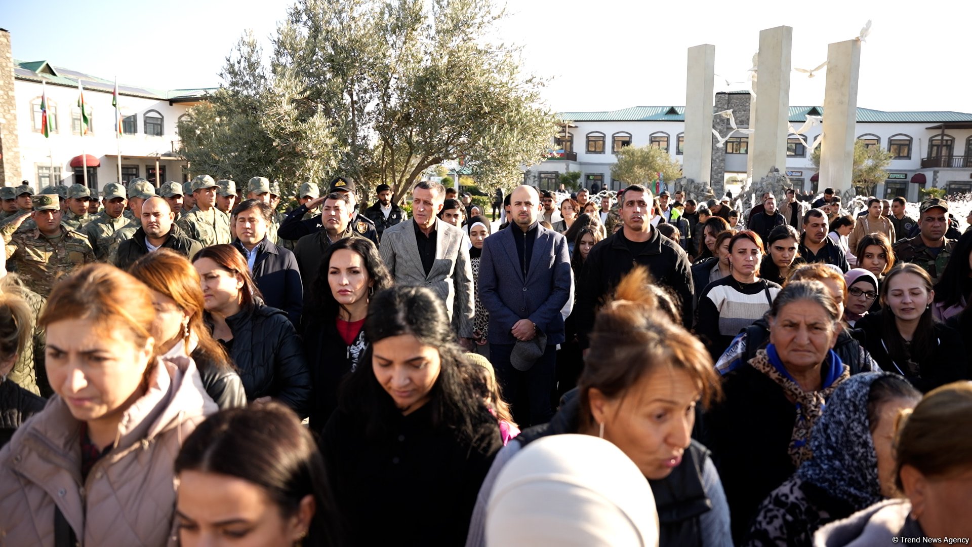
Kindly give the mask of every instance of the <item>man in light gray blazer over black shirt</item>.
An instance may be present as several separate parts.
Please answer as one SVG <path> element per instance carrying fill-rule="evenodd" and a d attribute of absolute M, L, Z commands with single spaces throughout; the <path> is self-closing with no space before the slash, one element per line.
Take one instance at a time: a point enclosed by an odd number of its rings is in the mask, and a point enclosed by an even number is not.
<path fill-rule="evenodd" d="M 396 284 L 429 287 L 445 303 L 459 343 L 472 348 L 472 266 L 466 233 L 436 215 L 445 188 L 423 181 L 412 189 L 412 220 L 385 229 L 379 252 Z"/>

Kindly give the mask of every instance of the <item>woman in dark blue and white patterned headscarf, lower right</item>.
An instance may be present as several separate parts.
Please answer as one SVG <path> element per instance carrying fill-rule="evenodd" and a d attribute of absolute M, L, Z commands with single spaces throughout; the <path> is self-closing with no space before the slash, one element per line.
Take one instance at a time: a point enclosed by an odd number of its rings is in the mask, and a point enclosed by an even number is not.
<path fill-rule="evenodd" d="M 920 398 L 895 374 L 841 383 L 811 433 L 813 459 L 763 500 L 743 545 L 811 547 L 816 529 L 895 497 L 894 426 Z"/>

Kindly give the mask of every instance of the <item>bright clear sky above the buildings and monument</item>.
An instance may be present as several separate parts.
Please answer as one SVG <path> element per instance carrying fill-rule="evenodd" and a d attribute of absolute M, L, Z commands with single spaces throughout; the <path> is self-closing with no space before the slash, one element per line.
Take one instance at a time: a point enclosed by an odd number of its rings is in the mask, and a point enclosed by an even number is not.
<path fill-rule="evenodd" d="M 159 89 L 219 85 L 243 30 L 268 37 L 290 0 L 47 0 L 0 2 L 14 56 L 46 59 L 121 83 Z M 968 0 L 510 0 L 503 37 L 523 46 L 525 69 L 550 78 L 556 110 L 612 110 L 685 102 L 686 49 L 715 45 L 716 91 L 746 89 L 759 30 L 793 27 L 793 66 L 814 68 L 827 44 L 868 19 L 857 104 L 881 110 L 972 112 Z M 821 105 L 826 71 L 793 72 L 791 105 Z"/>

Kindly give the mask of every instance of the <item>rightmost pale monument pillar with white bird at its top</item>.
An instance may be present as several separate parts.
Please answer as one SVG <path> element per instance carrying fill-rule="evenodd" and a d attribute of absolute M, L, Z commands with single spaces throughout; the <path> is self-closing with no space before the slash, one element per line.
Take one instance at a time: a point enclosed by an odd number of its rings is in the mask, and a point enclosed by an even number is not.
<path fill-rule="evenodd" d="M 820 143 L 820 188 L 853 193 L 854 130 L 857 124 L 857 74 L 860 42 L 827 45 L 827 87 L 823 95 L 823 141 Z"/>

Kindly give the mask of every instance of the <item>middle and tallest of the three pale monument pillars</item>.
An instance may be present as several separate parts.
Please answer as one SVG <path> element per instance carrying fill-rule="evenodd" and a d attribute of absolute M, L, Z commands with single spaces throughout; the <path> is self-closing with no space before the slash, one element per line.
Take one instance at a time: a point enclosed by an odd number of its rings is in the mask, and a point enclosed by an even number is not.
<path fill-rule="evenodd" d="M 749 136 L 752 180 L 766 176 L 774 166 L 786 170 L 786 137 L 789 120 L 790 49 L 793 28 L 778 26 L 759 31 L 754 129 Z"/>

